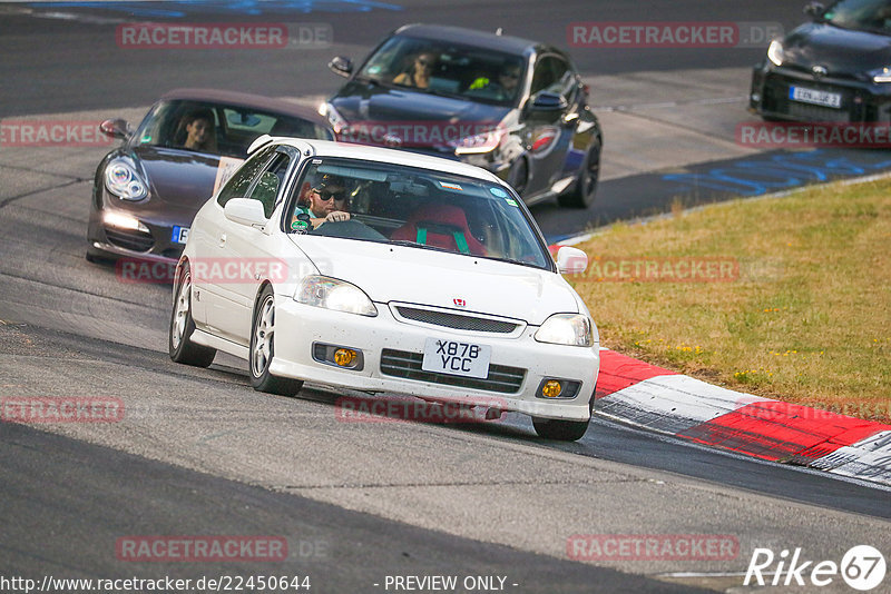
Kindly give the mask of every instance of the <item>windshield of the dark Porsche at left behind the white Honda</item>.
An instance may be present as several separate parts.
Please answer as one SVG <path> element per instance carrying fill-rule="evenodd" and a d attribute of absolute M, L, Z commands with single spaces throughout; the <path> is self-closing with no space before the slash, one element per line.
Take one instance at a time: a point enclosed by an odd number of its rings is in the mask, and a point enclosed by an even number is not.
<path fill-rule="evenodd" d="M 244 159 L 251 143 L 264 133 L 331 139 L 324 127 L 295 116 L 175 100 L 161 101 L 151 110 L 136 132 L 136 143 Z"/>

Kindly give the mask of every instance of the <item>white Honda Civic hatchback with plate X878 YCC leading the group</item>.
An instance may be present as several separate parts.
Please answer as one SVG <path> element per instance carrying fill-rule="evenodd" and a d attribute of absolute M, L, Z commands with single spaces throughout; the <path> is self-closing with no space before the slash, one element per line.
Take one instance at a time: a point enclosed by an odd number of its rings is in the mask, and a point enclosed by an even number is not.
<path fill-rule="evenodd" d="M 587 429 L 597 328 L 522 200 L 495 175 L 404 151 L 258 138 L 202 207 L 174 284 L 169 352 L 248 362 L 253 386 L 304 380 L 530 415 Z"/>

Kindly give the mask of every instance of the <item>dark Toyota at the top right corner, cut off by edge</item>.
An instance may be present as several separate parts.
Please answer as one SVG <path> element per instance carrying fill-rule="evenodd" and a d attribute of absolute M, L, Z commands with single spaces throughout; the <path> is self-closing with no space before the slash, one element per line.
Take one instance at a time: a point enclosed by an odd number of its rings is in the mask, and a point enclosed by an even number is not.
<path fill-rule="evenodd" d="M 774 40 L 752 77 L 768 120 L 891 122 L 891 1 L 805 7 L 813 22 Z"/>

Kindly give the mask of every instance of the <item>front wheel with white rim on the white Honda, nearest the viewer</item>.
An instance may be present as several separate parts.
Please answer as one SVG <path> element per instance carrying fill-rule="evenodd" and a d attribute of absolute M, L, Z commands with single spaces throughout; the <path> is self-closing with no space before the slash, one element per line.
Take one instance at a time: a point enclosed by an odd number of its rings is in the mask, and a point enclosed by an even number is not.
<path fill-rule="evenodd" d="M 247 360 L 251 385 L 258 392 L 295 396 L 303 387 L 302 379 L 276 377 L 270 373 L 270 366 L 275 357 L 275 333 L 270 331 L 270 327 L 275 327 L 275 298 L 266 285 L 254 306 L 254 317 L 251 323 L 251 350 Z"/>

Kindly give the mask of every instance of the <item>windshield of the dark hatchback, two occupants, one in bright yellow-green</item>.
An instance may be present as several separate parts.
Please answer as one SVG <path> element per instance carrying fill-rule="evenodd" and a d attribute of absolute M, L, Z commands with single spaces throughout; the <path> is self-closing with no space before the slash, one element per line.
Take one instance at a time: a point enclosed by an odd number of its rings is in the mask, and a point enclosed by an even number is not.
<path fill-rule="evenodd" d="M 521 56 L 396 36 L 369 58 L 359 76 L 419 92 L 513 106 L 523 65 Z"/>

